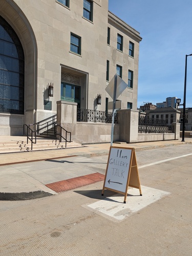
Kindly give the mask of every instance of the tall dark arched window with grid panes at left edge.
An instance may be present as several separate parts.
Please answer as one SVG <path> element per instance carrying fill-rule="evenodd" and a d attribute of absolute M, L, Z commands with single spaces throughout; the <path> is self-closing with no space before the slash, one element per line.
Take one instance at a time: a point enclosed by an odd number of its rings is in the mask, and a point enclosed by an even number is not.
<path fill-rule="evenodd" d="M 24 51 L 0 16 L 0 113 L 24 114 Z"/>

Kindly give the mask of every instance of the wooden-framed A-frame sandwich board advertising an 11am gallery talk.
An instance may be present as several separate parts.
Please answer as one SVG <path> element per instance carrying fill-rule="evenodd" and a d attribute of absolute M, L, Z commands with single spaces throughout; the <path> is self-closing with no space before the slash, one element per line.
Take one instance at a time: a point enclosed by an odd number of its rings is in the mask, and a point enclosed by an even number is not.
<path fill-rule="evenodd" d="M 123 194 L 126 203 L 129 186 L 138 188 L 142 196 L 135 148 L 111 146 L 101 195 L 109 189 Z"/>

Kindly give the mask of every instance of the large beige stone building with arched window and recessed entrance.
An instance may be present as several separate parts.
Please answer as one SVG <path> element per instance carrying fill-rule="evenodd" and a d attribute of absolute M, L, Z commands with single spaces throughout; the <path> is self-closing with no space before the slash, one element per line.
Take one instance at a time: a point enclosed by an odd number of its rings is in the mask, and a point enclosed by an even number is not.
<path fill-rule="evenodd" d="M 1 0 L 0 134 L 22 135 L 58 101 L 108 111 L 116 73 L 128 84 L 121 109 L 137 110 L 141 39 L 107 0 Z"/>

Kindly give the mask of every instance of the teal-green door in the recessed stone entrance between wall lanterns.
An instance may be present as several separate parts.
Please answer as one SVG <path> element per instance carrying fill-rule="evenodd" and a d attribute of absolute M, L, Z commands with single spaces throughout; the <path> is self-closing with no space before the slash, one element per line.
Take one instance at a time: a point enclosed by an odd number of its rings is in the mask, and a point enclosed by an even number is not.
<path fill-rule="evenodd" d="M 61 82 L 61 100 L 77 103 L 80 108 L 80 87 L 71 83 Z"/>

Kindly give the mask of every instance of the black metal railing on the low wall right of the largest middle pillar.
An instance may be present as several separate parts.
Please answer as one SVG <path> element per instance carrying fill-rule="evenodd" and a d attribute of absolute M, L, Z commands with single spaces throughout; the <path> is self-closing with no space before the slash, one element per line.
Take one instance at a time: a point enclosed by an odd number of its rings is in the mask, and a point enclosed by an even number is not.
<path fill-rule="evenodd" d="M 139 133 L 174 133 L 174 127 L 166 120 L 139 117 Z"/>

